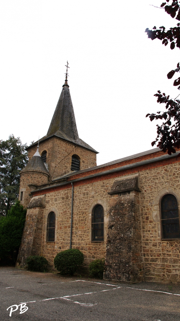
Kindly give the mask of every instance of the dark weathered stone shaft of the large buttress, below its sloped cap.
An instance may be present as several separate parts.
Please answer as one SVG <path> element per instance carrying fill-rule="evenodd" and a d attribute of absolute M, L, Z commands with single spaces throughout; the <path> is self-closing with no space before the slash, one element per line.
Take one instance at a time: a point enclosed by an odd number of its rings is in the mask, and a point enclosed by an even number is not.
<path fill-rule="evenodd" d="M 104 279 L 143 280 L 140 192 L 114 195 L 110 200 Z"/>

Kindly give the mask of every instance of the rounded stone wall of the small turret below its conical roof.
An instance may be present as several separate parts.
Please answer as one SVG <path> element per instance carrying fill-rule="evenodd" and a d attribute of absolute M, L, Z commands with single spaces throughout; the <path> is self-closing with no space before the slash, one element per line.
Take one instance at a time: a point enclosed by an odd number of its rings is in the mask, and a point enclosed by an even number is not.
<path fill-rule="evenodd" d="M 30 200 L 31 200 L 31 195 L 29 196 L 32 187 L 29 187 L 29 184 L 34 184 L 36 186 L 40 186 L 43 184 L 48 183 L 48 176 L 43 174 L 43 173 L 38 173 L 38 172 L 22 172 L 20 174 L 20 192 L 23 192 L 23 197 L 22 201 L 20 203 L 27 208 Z M 19 199 L 20 199 L 20 193 L 19 193 Z"/>

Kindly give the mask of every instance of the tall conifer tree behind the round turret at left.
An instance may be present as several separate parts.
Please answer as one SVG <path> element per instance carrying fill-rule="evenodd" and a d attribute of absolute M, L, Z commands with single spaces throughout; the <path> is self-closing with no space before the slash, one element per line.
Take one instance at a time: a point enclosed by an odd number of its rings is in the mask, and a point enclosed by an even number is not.
<path fill-rule="evenodd" d="M 27 144 L 10 135 L 0 140 L 0 215 L 7 215 L 19 195 L 20 171 L 28 163 Z"/>

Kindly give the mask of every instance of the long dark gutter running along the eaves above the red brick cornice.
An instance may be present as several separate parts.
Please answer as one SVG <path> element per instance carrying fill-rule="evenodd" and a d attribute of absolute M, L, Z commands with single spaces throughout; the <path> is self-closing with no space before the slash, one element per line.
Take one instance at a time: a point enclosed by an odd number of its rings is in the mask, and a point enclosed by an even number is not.
<path fill-rule="evenodd" d="M 159 156 L 159 157 L 151 158 L 151 159 L 148 159 L 148 160 L 139 161 L 137 163 L 124 165 L 124 166 L 117 167 L 117 168 L 114 168 L 114 169 L 109 169 L 109 170 L 106 170 L 104 172 L 99 172 L 97 174 L 92 174 L 92 175 L 84 176 L 84 177 L 81 177 L 81 178 L 71 179 L 70 181 L 66 181 L 64 183 L 60 183 L 60 184 L 57 184 L 57 185 L 35 189 L 34 191 L 31 191 L 31 194 L 39 192 L 39 191 L 45 191 L 47 189 L 51 189 L 51 188 L 54 188 L 54 187 L 60 187 L 60 186 L 68 185 L 68 184 L 71 184 L 72 182 L 74 183 L 74 182 L 78 182 L 78 181 L 82 181 L 82 180 L 86 180 L 86 179 L 89 179 L 89 178 L 94 178 L 94 177 L 98 177 L 98 176 L 102 176 L 102 175 L 122 172 L 123 170 L 126 170 L 126 169 L 133 169 L 133 168 L 136 168 L 136 167 L 139 167 L 139 166 L 153 164 L 153 163 L 159 162 L 161 160 L 168 160 L 168 159 L 175 158 L 175 157 L 177 158 L 179 155 L 180 155 L 180 152 L 172 154 L 172 155 L 166 154 L 166 155 L 162 155 L 162 156 Z"/>

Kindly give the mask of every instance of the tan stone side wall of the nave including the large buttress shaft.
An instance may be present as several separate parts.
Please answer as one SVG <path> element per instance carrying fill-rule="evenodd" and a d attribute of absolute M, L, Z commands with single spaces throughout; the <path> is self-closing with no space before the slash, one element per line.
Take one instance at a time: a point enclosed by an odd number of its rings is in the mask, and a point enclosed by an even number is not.
<path fill-rule="evenodd" d="M 127 175 L 135 173 L 135 170 L 128 170 Z M 146 281 L 177 282 L 180 274 L 180 239 L 161 239 L 160 200 L 166 193 L 173 194 L 180 209 L 180 163 L 156 168 L 151 165 L 149 169 L 141 168 L 138 172 L 141 192 L 131 191 L 127 195 L 108 194 L 115 178 L 94 178 L 93 183 L 74 184 L 72 247 L 83 252 L 85 265 L 93 259 L 106 257 L 107 271 L 110 271 L 113 279 L 117 279 L 119 274 L 119 280 L 128 281 L 131 275 L 135 275 L 138 281 L 143 275 Z M 65 187 L 45 195 L 40 254 L 48 259 L 52 267 L 55 255 L 69 248 L 71 193 L 71 188 Z M 91 213 L 95 204 L 102 204 L 104 208 L 104 242 L 91 241 Z M 46 242 L 47 216 L 50 211 L 56 214 L 55 242 Z M 120 228 L 120 217 L 123 229 Z M 114 224 L 112 222 L 116 225 L 115 232 L 110 229 L 110 225 Z M 119 231 L 123 235 L 121 240 L 118 238 Z M 113 273 L 116 275 L 113 276 Z"/>

